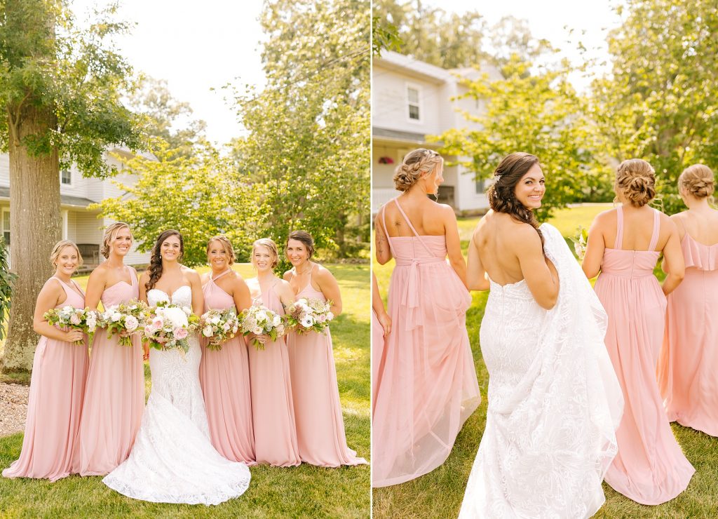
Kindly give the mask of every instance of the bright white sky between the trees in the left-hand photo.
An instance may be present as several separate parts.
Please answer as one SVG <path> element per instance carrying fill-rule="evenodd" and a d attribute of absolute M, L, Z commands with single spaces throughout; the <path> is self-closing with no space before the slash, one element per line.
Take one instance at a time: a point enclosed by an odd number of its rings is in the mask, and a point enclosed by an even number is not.
<path fill-rule="evenodd" d="M 119 2 L 118 17 L 136 25 L 131 34 L 116 37 L 116 44 L 134 69 L 167 80 L 174 98 L 190 103 L 195 118 L 207 122 L 210 141 L 224 144 L 241 135 L 241 124 L 220 87 L 229 82 L 259 90 L 264 86 L 264 33 L 258 22 L 262 0 Z M 71 7 L 83 20 L 93 6 L 107 4 L 72 0 Z"/>

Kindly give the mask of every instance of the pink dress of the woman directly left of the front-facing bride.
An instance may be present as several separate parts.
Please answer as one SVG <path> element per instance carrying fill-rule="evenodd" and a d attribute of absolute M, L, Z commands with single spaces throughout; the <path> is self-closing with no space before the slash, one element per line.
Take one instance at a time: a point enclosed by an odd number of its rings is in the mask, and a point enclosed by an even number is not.
<path fill-rule="evenodd" d="M 119 281 L 103 291 L 103 307 L 139 297 L 133 268 L 131 284 Z M 131 346 L 118 344 L 119 336 L 107 338 L 98 328 L 90 351 L 87 391 L 75 446 L 73 472 L 81 476 L 103 476 L 127 459 L 144 411 L 144 368 L 139 334 Z"/>

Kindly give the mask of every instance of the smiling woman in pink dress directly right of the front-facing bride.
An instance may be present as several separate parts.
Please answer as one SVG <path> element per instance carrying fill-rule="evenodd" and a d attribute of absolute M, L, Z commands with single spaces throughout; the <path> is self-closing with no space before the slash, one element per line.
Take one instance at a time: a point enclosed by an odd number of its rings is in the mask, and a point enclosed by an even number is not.
<path fill-rule="evenodd" d="M 231 268 L 234 259 L 234 249 L 226 236 L 215 236 L 207 243 L 207 261 L 212 271 L 202 275 L 205 312 L 234 308 L 240 314 L 250 306 L 247 284 Z M 254 465 L 256 457 L 246 342 L 241 335 L 237 335 L 225 342 L 221 350 L 208 350 L 208 340 L 204 337 L 200 342 L 200 383 L 212 444 L 230 461 Z"/>

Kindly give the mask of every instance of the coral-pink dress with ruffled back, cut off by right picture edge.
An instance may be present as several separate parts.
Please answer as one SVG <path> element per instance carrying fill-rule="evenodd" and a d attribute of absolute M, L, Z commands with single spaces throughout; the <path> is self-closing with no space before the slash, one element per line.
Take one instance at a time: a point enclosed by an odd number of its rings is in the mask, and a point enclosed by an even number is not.
<path fill-rule="evenodd" d="M 718 243 L 686 234 L 686 277 L 668 295 L 658 386 L 669 421 L 718 436 Z"/>

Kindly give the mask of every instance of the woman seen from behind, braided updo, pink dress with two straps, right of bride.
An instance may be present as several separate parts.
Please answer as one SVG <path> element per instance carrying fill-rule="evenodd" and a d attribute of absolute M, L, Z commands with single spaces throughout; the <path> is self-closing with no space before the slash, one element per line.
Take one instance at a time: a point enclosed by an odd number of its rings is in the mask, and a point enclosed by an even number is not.
<path fill-rule="evenodd" d="M 589 279 L 601 271 L 595 290 L 608 314 L 606 347 L 625 398 L 618 454 L 605 480 L 643 505 L 673 499 L 695 472 L 673 436 L 656 384 L 665 295 L 681 283 L 685 268 L 676 225 L 648 207 L 655 184 L 653 167 L 644 160 L 618 166 L 620 205 L 596 217 L 583 260 Z M 653 276 L 661 252 L 668 272 L 662 287 Z"/>

